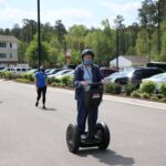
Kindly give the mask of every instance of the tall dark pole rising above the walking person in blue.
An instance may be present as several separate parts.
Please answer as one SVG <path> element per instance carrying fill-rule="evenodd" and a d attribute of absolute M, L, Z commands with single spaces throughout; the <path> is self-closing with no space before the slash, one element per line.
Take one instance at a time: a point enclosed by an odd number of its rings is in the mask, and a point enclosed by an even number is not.
<path fill-rule="evenodd" d="M 40 0 L 38 0 L 38 68 L 41 65 Z"/>

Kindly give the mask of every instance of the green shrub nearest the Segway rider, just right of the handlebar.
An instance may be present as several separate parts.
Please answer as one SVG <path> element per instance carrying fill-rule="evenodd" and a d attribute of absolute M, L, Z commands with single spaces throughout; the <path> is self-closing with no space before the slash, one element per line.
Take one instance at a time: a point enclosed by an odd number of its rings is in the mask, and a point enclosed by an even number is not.
<path fill-rule="evenodd" d="M 105 85 L 105 92 L 112 94 L 120 94 L 121 93 L 121 85 L 115 83 L 108 83 Z"/>

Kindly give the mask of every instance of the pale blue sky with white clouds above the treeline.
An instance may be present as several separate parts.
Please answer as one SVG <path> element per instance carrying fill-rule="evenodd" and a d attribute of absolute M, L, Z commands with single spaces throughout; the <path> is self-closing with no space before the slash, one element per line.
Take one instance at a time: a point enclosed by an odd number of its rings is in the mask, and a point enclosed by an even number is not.
<path fill-rule="evenodd" d="M 0 28 L 22 27 L 23 19 L 38 20 L 38 0 L 0 0 Z M 84 24 L 101 28 L 102 20 L 108 19 L 114 27 L 117 14 L 124 24 L 138 22 L 138 9 L 143 0 L 40 0 L 41 22 L 55 24 L 61 19 L 65 28 Z"/>

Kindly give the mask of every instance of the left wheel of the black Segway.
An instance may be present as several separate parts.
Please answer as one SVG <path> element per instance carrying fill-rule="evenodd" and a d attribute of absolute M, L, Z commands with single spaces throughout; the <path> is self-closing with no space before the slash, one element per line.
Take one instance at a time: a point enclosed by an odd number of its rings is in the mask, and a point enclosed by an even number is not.
<path fill-rule="evenodd" d="M 66 128 L 66 144 L 71 153 L 76 153 L 80 147 L 80 133 L 76 125 L 70 124 Z"/>

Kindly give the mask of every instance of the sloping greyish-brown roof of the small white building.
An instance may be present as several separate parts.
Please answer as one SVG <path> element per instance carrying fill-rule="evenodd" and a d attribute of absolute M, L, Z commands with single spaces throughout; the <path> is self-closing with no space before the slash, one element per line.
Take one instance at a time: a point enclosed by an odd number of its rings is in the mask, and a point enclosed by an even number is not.
<path fill-rule="evenodd" d="M 148 58 L 143 55 L 124 55 L 123 58 L 129 60 L 134 64 L 146 64 L 148 62 Z"/>

